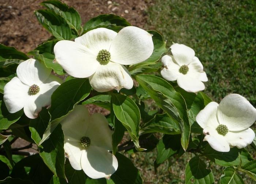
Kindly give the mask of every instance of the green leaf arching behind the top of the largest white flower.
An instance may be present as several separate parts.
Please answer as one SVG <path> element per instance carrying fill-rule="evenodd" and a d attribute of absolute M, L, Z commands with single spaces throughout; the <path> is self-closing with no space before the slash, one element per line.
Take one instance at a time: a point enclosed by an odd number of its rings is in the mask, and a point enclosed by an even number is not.
<path fill-rule="evenodd" d="M 104 14 L 94 17 L 85 23 L 83 26 L 83 34 L 99 27 L 105 27 L 118 32 L 126 26 L 131 26 L 131 24 L 124 18 L 114 14 Z"/>

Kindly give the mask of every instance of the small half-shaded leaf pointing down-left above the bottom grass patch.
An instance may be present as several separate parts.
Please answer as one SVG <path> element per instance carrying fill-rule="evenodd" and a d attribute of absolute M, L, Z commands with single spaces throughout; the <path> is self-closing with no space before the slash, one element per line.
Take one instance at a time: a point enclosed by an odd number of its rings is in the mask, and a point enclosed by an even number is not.
<path fill-rule="evenodd" d="M 155 160 L 155 169 L 167 160 L 170 156 L 177 154 L 181 149 L 181 135 L 165 134 L 157 144 L 157 159 Z"/>

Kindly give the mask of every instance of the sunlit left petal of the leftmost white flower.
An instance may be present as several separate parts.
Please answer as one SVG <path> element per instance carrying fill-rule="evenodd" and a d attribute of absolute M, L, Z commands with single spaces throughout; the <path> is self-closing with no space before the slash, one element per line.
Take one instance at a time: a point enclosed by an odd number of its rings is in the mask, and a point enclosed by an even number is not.
<path fill-rule="evenodd" d="M 22 109 L 29 98 L 29 86 L 14 77 L 4 86 L 4 103 L 10 113 Z"/>

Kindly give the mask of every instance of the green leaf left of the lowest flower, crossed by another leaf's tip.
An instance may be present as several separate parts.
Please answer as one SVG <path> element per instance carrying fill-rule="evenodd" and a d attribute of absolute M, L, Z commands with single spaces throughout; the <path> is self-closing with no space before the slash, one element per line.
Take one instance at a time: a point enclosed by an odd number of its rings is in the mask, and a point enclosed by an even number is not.
<path fill-rule="evenodd" d="M 48 110 L 45 108 L 39 113 L 38 118 L 30 121 L 31 138 L 38 145 L 50 120 Z M 54 175 L 64 178 L 64 134 L 61 125 L 58 125 L 49 138 L 39 146 L 39 154 L 44 163 Z"/>

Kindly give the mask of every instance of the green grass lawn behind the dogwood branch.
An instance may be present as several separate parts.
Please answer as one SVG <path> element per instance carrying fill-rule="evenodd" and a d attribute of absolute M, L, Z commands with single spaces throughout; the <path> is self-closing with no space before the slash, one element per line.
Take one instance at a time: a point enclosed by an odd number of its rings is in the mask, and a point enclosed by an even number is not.
<path fill-rule="evenodd" d="M 256 106 L 256 1 L 155 0 L 148 8 L 147 28 L 159 31 L 167 46 L 182 43 L 196 52 L 208 76 L 207 93 L 220 102 L 230 93 L 246 97 Z M 255 129 L 255 126 L 253 126 Z M 247 147 L 255 158 L 251 146 Z M 193 157 L 172 157 L 154 173 L 157 151 L 130 158 L 140 169 L 145 184 L 184 184 L 184 169 Z M 212 163 L 217 183 L 223 167 Z M 252 179 L 241 175 L 246 184 Z"/>

